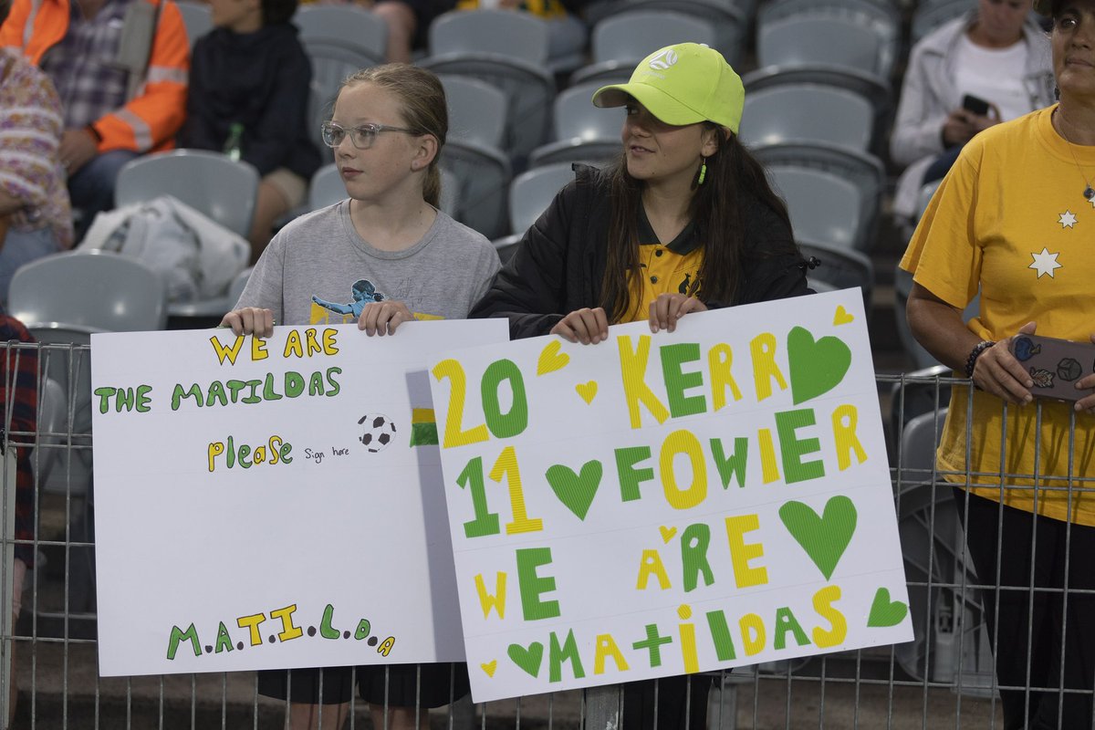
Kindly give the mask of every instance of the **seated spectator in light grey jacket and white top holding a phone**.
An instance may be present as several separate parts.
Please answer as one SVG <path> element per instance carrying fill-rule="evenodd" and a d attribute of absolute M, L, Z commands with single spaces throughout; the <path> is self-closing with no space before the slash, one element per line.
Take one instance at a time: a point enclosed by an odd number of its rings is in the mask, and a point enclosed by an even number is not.
<path fill-rule="evenodd" d="M 908 165 L 895 215 L 920 212 L 921 187 L 943 177 L 973 135 L 1053 103 L 1049 40 L 1028 11 L 1027 0 L 978 0 L 913 46 L 890 138 L 890 157 Z M 988 111 L 964 108 L 967 94 Z"/>

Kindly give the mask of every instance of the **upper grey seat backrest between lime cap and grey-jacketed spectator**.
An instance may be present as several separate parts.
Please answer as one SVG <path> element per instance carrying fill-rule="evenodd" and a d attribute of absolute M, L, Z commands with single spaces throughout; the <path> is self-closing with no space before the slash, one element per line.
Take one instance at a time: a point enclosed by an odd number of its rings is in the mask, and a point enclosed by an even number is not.
<path fill-rule="evenodd" d="M 840 16 L 793 15 L 757 30 L 760 66 L 831 63 L 885 77 L 880 45 L 869 26 Z"/>

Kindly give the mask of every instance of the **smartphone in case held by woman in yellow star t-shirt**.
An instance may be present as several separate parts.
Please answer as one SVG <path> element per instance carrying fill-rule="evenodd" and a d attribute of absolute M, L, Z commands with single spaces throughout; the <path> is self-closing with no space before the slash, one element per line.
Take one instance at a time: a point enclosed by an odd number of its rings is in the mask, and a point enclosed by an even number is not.
<path fill-rule="evenodd" d="M 1030 395 L 1070 402 L 1091 395 L 1091 390 L 1076 390 L 1075 382 L 1095 372 L 1095 345 L 1015 335 L 1008 349 L 1034 381 Z"/>

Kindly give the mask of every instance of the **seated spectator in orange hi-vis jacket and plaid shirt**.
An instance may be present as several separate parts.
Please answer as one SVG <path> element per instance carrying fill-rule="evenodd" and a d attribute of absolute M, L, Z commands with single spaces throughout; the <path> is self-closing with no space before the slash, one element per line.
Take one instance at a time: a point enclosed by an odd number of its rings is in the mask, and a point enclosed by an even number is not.
<path fill-rule="evenodd" d="M 122 166 L 171 148 L 183 123 L 182 14 L 172 0 L 14 0 L 0 46 L 36 63 L 61 99 L 60 160 L 80 239 L 95 213 L 114 207 Z"/>

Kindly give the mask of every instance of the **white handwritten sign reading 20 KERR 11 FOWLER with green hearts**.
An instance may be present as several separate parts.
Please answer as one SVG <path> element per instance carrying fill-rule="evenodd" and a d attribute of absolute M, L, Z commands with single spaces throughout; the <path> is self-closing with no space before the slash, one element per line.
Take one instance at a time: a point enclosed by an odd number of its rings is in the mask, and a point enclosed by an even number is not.
<path fill-rule="evenodd" d="M 435 359 L 476 702 L 912 638 L 862 301 Z"/>

